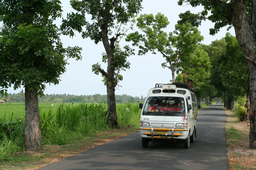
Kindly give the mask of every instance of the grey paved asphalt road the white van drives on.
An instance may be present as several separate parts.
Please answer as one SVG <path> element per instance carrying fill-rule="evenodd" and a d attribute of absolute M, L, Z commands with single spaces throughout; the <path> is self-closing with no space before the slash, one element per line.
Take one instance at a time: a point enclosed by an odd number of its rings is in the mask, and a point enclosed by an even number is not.
<path fill-rule="evenodd" d="M 84 151 L 39 170 L 229 170 L 225 112 L 213 105 L 198 112 L 197 138 L 183 142 L 141 145 L 139 133 Z"/>

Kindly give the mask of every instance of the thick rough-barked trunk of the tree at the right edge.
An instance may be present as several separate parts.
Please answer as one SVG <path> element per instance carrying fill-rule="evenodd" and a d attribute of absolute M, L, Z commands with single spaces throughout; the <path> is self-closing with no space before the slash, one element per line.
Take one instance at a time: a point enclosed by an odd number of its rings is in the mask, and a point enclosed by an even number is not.
<path fill-rule="evenodd" d="M 231 22 L 234 26 L 236 38 L 243 51 L 243 56 L 247 60 L 249 76 L 250 76 L 250 135 L 249 146 L 252 149 L 256 148 L 256 18 L 255 18 L 255 0 L 252 1 L 252 18 L 247 16 L 247 1 L 231 1 Z"/>

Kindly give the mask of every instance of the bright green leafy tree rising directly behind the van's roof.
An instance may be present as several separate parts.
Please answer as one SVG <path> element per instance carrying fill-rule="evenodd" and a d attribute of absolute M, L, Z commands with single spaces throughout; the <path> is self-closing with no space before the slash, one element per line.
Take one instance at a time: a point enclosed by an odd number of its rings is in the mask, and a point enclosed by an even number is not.
<path fill-rule="evenodd" d="M 167 33 L 164 30 L 169 25 L 169 21 L 161 13 L 155 16 L 142 14 L 137 21 L 137 27 L 142 33 L 139 31 L 130 33 L 126 41 L 132 41 L 134 46 L 139 47 L 139 55 L 144 55 L 148 51 L 152 54 L 160 53 L 165 58 L 162 67 L 171 70 L 172 82 L 175 82 L 175 72 L 178 73 L 185 66 L 190 66 L 191 69 L 209 66 L 207 57 L 203 55 L 205 53 L 201 53 L 198 48 L 203 36 L 196 27 L 189 23 L 176 25 L 173 32 Z M 198 60 L 201 62 L 196 62 Z"/>

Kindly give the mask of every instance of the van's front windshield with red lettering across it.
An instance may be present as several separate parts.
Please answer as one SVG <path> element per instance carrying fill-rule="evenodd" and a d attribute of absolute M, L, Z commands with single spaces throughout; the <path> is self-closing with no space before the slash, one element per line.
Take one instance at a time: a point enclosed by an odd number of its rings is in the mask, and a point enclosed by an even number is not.
<path fill-rule="evenodd" d="M 184 98 L 149 97 L 142 114 L 151 116 L 184 116 Z"/>

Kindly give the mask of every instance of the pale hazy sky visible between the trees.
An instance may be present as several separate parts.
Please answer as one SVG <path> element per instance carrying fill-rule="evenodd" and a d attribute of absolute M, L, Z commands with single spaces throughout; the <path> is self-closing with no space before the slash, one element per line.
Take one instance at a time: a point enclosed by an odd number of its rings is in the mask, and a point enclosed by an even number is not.
<path fill-rule="evenodd" d="M 202 11 L 202 7 L 192 8 L 190 6 L 178 6 L 177 1 L 178 0 L 144 0 L 142 3 L 143 9 L 140 14 L 152 13 L 156 15 L 158 12 L 164 14 L 170 22 L 166 31 L 173 32 L 175 30 L 175 24 L 177 24 L 177 21 L 180 19 L 178 15 L 181 12 L 190 10 L 191 12 L 197 13 Z M 75 12 L 71 8 L 68 0 L 61 0 L 61 2 L 63 18 L 66 18 L 67 13 Z M 233 28 L 229 31 L 227 31 L 226 28 L 222 28 L 216 35 L 209 35 L 209 28 L 213 28 L 213 26 L 214 24 L 210 21 L 202 22 L 199 30 L 204 40 L 201 43 L 209 45 L 212 41 L 223 38 L 226 32 L 235 35 Z M 107 89 L 102 82 L 102 76 L 92 72 L 92 65 L 97 62 L 101 64 L 105 71 L 107 70 L 106 65 L 102 63 L 101 54 L 104 52 L 102 42 L 96 45 L 90 39 L 81 38 L 81 34 L 79 33 L 75 33 L 75 37 L 73 38 L 61 36 L 61 39 L 64 47 L 82 47 L 82 60 L 75 61 L 75 59 L 69 59 L 68 62 L 70 64 L 66 66 L 66 72 L 61 75 L 60 83 L 58 85 L 47 84 L 44 94 L 106 95 Z M 127 44 L 124 39 L 123 43 Z M 122 42 L 120 45 L 122 45 Z M 136 55 L 128 57 L 128 61 L 131 64 L 130 69 L 120 72 L 123 76 L 123 80 L 119 82 L 120 86 L 115 91 L 116 95 L 127 94 L 133 97 L 145 97 L 149 89 L 155 87 L 155 84 L 167 84 L 172 79 L 171 70 L 162 68 L 161 66 L 161 63 L 164 62 L 164 58 L 160 53 L 155 55 L 147 53 L 146 55 L 139 56 L 138 49 L 135 53 Z M 17 90 L 8 88 L 8 93 L 19 93 L 21 89 L 25 88 L 23 87 Z"/>

